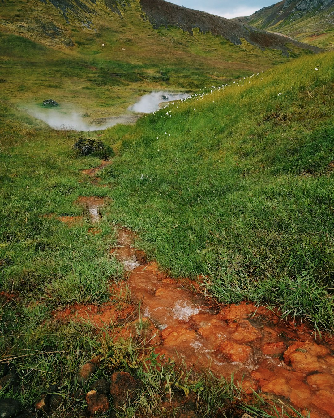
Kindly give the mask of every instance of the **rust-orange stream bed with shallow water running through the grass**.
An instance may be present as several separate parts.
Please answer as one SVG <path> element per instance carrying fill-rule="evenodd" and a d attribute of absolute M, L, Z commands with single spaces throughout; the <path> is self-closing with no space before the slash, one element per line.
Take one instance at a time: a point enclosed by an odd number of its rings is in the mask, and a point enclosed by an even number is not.
<path fill-rule="evenodd" d="M 98 169 L 104 166 L 85 173 L 96 181 Z M 99 222 L 105 199 L 80 198 L 77 203 L 86 208 L 92 223 Z M 217 303 L 203 296 L 204 278 L 168 277 L 134 247 L 136 235 L 131 230 L 117 226 L 116 232 L 117 245 L 110 254 L 123 263 L 133 300 L 133 308 L 127 306 L 119 317 L 133 315 L 139 303 L 139 316 L 151 321 L 158 336 L 151 342 L 156 354 L 228 380 L 233 374 L 246 393 L 261 391 L 305 416 L 311 411 L 311 418 L 334 417 L 332 337 L 315 339 L 308 325 L 294 319 L 283 321 L 279 311 L 265 306 L 248 301 Z M 84 309 L 88 320 L 96 318 L 98 307 L 91 314 L 90 309 Z M 73 310 L 78 312 L 79 307 Z"/>

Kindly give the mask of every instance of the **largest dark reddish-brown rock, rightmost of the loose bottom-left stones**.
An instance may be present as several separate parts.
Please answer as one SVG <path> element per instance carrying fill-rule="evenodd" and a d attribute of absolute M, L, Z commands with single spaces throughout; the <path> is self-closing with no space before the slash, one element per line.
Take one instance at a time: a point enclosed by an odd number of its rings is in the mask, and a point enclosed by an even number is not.
<path fill-rule="evenodd" d="M 127 401 L 133 402 L 139 383 L 127 372 L 116 372 L 111 375 L 110 395 L 115 408 L 122 407 Z"/>

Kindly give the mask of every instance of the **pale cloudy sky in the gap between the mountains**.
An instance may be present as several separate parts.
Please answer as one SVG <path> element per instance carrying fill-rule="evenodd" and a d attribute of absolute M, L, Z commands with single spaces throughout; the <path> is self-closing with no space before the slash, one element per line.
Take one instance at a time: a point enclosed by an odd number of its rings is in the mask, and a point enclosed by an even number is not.
<path fill-rule="evenodd" d="M 279 0 L 168 0 L 170 3 L 202 10 L 224 18 L 236 18 L 237 16 L 249 16 L 265 6 L 277 3 Z"/>

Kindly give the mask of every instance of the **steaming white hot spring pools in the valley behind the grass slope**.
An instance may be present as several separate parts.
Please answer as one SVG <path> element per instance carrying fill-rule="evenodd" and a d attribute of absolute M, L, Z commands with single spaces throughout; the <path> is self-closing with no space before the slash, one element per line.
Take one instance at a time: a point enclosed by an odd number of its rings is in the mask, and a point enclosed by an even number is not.
<path fill-rule="evenodd" d="M 43 120 L 53 129 L 95 131 L 106 129 L 118 123 L 135 123 L 143 114 L 159 110 L 161 103 L 186 99 L 189 96 L 190 94 L 187 93 L 151 92 L 145 94 L 138 102 L 128 107 L 129 113 L 120 116 L 102 117 L 92 122 L 88 122 L 89 115 L 73 111 L 73 106 L 68 104 L 53 108 L 34 106 L 27 109 L 27 111 L 33 117 Z"/>

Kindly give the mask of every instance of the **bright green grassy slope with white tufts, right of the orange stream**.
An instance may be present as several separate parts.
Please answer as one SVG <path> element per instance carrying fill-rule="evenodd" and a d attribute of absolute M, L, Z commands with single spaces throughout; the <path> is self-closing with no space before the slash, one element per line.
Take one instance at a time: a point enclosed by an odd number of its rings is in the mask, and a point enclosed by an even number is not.
<path fill-rule="evenodd" d="M 332 60 L 299 59 L 107 130 L 122 138 L 104 175 L 116 222 L 172 275 L 208 275 L 222 301 L 279 304 L 333 329 Z"/>

